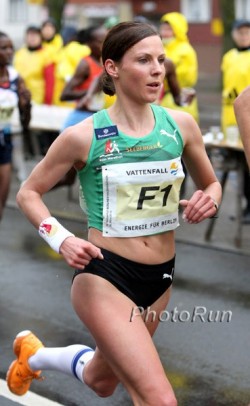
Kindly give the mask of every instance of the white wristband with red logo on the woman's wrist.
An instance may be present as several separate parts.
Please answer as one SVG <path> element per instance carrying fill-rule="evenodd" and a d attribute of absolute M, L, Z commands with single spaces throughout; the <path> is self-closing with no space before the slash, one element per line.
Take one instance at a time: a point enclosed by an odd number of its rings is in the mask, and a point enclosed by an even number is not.
<path fill-rule="evenodd" d="M 48 217 L 43 220 L 39 226 L 38 232 L 58 254 L 63 241 L 68 237 L 74 237 L 74 234 L 64 228 L 55 217 Z"/>

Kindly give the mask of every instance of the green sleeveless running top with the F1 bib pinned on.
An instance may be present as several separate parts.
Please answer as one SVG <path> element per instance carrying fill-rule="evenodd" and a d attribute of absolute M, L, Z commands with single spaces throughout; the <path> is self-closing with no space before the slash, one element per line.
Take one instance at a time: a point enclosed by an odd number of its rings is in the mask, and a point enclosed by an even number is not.
<path fill-rule="evenodd" d="M 151 108 L 155 127 L 140 138 L 119 131 L 107 110 L 93 115 L 88 160 L 78 172 L 80 203 L 88 226 L 105 237 L 159 234 L 179 225 L 183 139 L 164 108 Z"/>

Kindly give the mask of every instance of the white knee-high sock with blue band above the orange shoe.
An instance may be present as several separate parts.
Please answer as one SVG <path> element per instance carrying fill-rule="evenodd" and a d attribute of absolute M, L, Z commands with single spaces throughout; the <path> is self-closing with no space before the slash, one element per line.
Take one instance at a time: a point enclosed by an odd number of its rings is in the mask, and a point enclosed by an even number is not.
<path fill-rule="evenodd" d="M 94 350 L 86 345 L 74 344 L 68 347 L 40 348 L 32 355 L 28 364 L 33 371 L 54 370 L 74 375 L 83 382 L 83 369 L 94 356 Z"/>

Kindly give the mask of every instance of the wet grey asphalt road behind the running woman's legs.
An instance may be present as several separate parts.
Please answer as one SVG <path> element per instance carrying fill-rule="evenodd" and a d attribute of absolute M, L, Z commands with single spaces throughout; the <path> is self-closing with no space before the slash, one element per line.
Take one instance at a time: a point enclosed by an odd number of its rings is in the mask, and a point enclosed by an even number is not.
<path fill-rule="evenodd" d="M 63 224 L 85 235 L 84 224 Z M 72 273 L 18 210 L 5 210 L 0 224 L 2 380 L 21 330 L 33 330 L 46 346 L 94 345 L 71 307 Z M 172 299 L 154 340 L 179 406 L 249 406 L 249 308 L 250 256 L 177 242 Z M 51 371 L 44 375 L 31 387 L 44 403 L 27 395 L 8 399 L 0 390 L 0 405 L 48 406 L 50 400 L 65 406 L 131 405 L 122 387 L 112 398 L 99 399 L 73 378 Z"/>

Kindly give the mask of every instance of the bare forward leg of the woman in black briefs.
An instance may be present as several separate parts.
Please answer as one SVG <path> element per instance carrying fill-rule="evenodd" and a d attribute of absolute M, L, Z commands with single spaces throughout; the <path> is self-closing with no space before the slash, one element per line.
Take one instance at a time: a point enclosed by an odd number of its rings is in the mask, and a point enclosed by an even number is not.
<path fill-rule="evenodd" d="M 161 306 L 161 310 L 165 308 L 167 300 L 168 295 L 165 295 L 155 304 L 158 311 Z M 84 381 L 93 390 L 105 394 L 105 372 L 108 370 L 112 381 L 109 391 L 112 392 L 112 384 L 116 386 L 119 379 L 134 405 L 176 406 L 173 389 L 149 334 L 149 330 L 151 333 L 155 331 L 157 322 L 150 328 L 141 317 L 131 322 L 131 310 L 135 304 L 96 275 L 79 274 L 75 277 L 72 303 L 98 347 L 96 356 L 84 370 Z M 100 369 L 101 356 L 106 363 Z"/>

